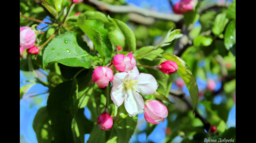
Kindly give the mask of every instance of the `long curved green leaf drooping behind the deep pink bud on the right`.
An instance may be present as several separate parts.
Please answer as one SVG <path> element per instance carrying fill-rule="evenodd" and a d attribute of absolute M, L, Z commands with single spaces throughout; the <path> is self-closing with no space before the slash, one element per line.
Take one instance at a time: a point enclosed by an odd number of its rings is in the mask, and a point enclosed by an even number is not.
<path fill-rule="evenodd" d="M 181 76 L 185 85 L 188 88 L 188 91 L 193 103 L 193 113 L 194 113 L 196 109 L 196 104 L 198 101 L 198 92 L 199 92 L 195 77 L 191 73 L 188 65 L 181 58 L 171 53 L 164 53 L 163 57 L 167 60 L 174 61 L 178 64 L 177 72 L 179 73 L 179 75 Z"/>

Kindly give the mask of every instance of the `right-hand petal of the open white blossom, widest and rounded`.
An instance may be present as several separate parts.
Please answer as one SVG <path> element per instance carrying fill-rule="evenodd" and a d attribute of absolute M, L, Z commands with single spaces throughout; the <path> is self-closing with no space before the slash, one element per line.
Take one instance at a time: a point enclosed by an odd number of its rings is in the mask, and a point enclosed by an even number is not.
<path fill-rule="evenodd" d="M 153 94 L 158 87 L 158 83 L 151 74 L 141 73 L 135 80 L 138 81 L 138 86 L 135 84 L 133 85 L 133 88 L 136 88 L 137 92 L 141 92 L 145 95 Z"/>

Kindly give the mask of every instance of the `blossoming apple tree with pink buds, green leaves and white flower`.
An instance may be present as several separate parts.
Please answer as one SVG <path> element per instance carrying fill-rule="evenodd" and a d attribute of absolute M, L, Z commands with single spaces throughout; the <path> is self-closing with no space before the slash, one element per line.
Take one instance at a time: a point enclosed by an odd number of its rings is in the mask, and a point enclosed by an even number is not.
<path fill-rule="evenodd" d="M 20 71 L 34 77 L 33 82 L 24 81 L 28 84 L 20 87 L 20 100 L 30 98 L 27 91 L 36 83 L 47 87 L 49 93 L 46 107 L 40 108 L 33 120 L 37 141 L 84 142 L 84 134 L 90 134 L 88 142 L 128 142 L 138 114 L 143 113 L 147 136 L 155 124 L 168 121 L 167 129 L 173 132 L 166 130 L 167 142 L 178 135 L 187 141 L 191 141 L 187 138 L 190 136 L 197 141 L 226 134 L 234 137 L 235 129 L 225 128 L 226 116 L 216 115 L 207 102 L 212 100 L 209 95 L 223 89 L 216 91 L 216 81 L 208 79 L 208 90 L 201 90 L 195 77 L 205 72 L 198 66 L 203 59 L 209 64 L 207 70 L 216 71 L 211 67 L 213 62 L 221 68 L 217 72 L 225 78 L 222 84 L 235 76 L 231 70 L 235 65 L 235 1 L 227 8 L 224 5 L 223 12 L 203 9 L 203 1 L 181 0 L 175 5 L 170 1 L 176 14 L 169 15 L 169 19 L 168 15 L 162 17 L 168 21 L 146 24 L 137 20 L 151 27 L 128 26 L 125 14 L 116 14 L 126 8 L 119 4 L 120 8 L 96 0 L 20 1 Z M 129 8 L 133 12 L 133 6 Z M 137 13 L 143 15 L 140 9 Z M 163 13 L 158 14 L 151 17 L 161 19 Z M 216 18 L 207 23 L 208 16 Z M 201 32 L 193 27 L 198 19 Z M 154 39 L 159 35 L 160 40 Z M 232 62 L 227 66 L 231 72 L 223 67 L 225 58 Z M 47 80 L 42 80 L 37 71 L 43 71 Z M 172 85 L 179 88 L 171 90 Z M 185 96 L 183 87 L 189 96 Z M 231 94 L 235 88 L 224 90 Z M 203 93 L 209 94 L 205 102 L 201 99 Z M 208 114 L 216 116 L 214 119 L 202 117 L 196 108 L 198 100 Z M 178 113 L 175 106 L 184 104 L 188 108 L 178 118 L 187 128 L 172 124 L 173 113 Z M 91 119 L 84 116 L 85 106 Z"/>

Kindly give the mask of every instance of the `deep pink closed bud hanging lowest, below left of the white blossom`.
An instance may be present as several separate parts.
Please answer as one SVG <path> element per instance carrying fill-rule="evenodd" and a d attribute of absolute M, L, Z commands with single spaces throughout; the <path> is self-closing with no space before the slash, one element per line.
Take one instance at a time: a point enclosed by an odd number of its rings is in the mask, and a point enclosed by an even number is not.
<path fill-rule="evenodd" d="M 113 119 L 112 117 L 107 113 L 102 113 L 98 117 L 98 123 L 101 131 L 107 131 L 109 130 L 113 125 Z"/>

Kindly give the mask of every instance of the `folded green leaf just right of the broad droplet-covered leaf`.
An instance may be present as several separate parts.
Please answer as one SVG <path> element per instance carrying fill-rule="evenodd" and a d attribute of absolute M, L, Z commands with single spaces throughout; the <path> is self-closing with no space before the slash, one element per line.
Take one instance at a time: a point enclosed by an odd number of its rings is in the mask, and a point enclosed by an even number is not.
<path fill-rule="evenodd" d="M 104 23 L 95 20 L 86 20 L 84 15 L 80 15 L 77 19 L 77 24 L 80 29 L 92 40 L 103 62 L 105 64 L 109 63 L 114 46 L 108 36 L 108 30 L 104 28 Z"/>

